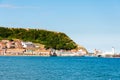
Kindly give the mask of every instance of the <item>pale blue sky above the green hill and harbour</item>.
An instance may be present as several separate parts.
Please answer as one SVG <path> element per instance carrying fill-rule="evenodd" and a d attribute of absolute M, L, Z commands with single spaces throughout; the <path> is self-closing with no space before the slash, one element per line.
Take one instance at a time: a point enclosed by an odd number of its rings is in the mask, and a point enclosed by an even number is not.
<path fill-rule="evenodd" d="M 120 52 L 120 0 L 0 0 L 0 26 L 64 32 L 89 52 Z"/>

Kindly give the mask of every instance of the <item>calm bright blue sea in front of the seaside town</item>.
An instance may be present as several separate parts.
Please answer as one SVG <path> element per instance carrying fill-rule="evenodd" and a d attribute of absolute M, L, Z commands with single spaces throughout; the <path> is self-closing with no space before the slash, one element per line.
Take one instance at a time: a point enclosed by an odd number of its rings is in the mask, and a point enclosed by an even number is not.
<path fill-rule="evenodd" d="M 0 80 L 120 80 L 120 59 L 1 56 Z"/>

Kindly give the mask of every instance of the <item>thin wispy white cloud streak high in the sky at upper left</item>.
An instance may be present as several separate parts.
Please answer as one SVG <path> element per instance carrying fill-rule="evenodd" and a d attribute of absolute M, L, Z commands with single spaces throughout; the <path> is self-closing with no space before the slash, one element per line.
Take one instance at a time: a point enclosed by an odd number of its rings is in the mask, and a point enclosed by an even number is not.
<path fill-rule="evenodd" d="M 15 8 L 39 8 L 39 7 L 35 7 L 35 6 L 15 6 L 15 5 L 10 5 L 10 4 L 0 4 L 0 8 L 11 8 L 11 9 L 15 9 Z"/>

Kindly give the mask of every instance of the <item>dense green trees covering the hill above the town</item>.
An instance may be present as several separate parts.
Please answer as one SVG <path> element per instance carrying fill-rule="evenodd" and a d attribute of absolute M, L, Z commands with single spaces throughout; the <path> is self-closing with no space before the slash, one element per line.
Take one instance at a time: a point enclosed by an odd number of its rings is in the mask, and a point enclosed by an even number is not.
<path fill-rule="evenodd" d="M 71 50 L 77 44 L 66 34 L 40 29 L 5 28 L 0 27 L 0 39 L 21 39 L 44 44 L 45 48 Z"/>

